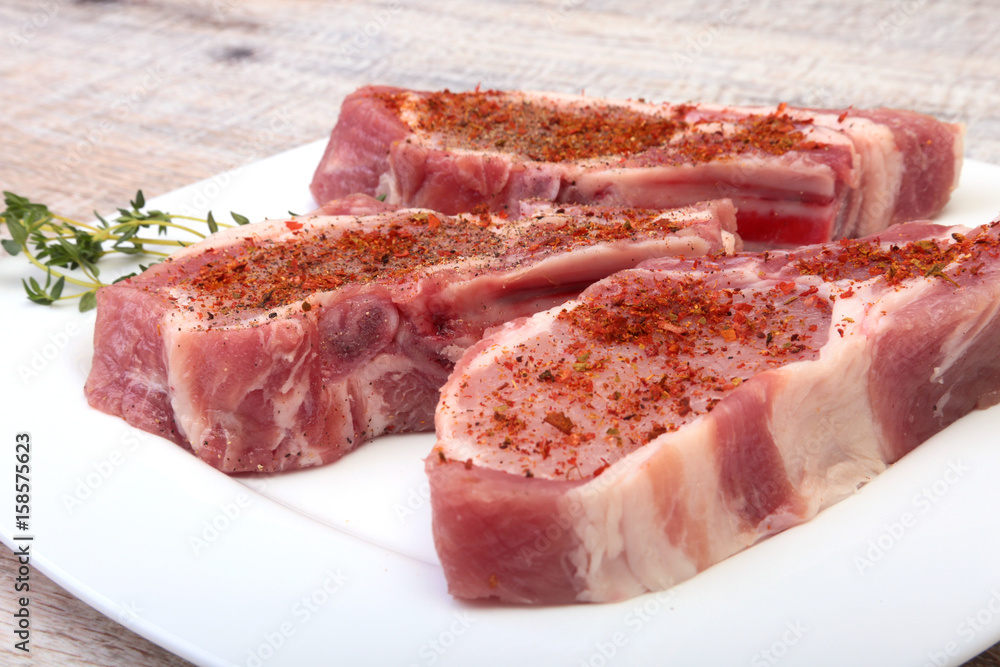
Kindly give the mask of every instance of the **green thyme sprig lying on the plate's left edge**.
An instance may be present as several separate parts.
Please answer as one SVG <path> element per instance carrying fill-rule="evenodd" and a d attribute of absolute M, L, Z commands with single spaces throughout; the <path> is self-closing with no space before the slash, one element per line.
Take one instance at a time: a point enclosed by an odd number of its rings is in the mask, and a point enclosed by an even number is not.
<path fill-rule="evenodd" d="M 22 280 L 24 291 L 34 303 L 49 306 L 57 301 L 80 299 L 80 312 L 86 312 L 97 305 L 97 290 L 110 283 L 101 280 L 98 262 L 111 254 L 145 255 L 153 261 L 139 264 L 139 272 L 152 264 L 162 261 L 169 252 L 156 248 L 177 248 L 190 245 L 191 241 L 162 238 L 168 230 L 193 236 L 201 240 L 223 227 L 233 225 L 217 222 L 209 212 L 206 218 L 197 218 L 159 210 L 147 210 L 142 190 L 129 201 L 129 208 L 119 208 L 118 216 L 108 220 L 95 212 L 96 222 L 92 224 L 52 213 L 48 206 L 29 200 L 27 197 L 4 191 L 6 208 L 0 213 L 0 222 L 7 225 L 11 238 L 0 241 L 11 255 L 24 253 L 29 262 L 45 272 L 45 283 L 35 278 Z M 245 225 L 249 220 L 238 213 L 230 213 L 237 225 Z M 175 222 L 181 221 L 181 222 Z M 195 229 L 188 223 L 204 224 L 208 233 Z M 154 236 L 140 236 L 143 230 L 153 230 Z M 73 271 L 75 273 L 69 273 Z M 113 282 L 137 275 L 133 272 L 117 278 Z M 81 290 L 73 294 L 63 294 L 66 284 Z"/>

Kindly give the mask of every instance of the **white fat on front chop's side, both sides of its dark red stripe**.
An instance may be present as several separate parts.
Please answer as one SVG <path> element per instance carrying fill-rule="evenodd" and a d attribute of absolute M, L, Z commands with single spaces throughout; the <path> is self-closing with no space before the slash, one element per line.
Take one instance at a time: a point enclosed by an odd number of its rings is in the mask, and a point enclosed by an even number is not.
<path fill-rule="evenodd" d="M 839 291 L 819 288 L 823 295 Z M 853 389 L 867 386 L 865 336 L 877 322 L 866 318 L 881 318 L 882 304 L 865 306 L 870 284 L 855 283 L 854 290 L 854 297 L 834 302 L 830 337 L 819 358 L 766 372 L 770 430 L 799 504 L 753 529 L 741 525 L 718 487 L 719 463 L 709 446 L 714 420 L 701 417 L 567 494 L 567 507 L 577 508 L 572 530 L 579 546 L 569 561 L 584 582 L 580 600 L 618 600 L 672 586 L 815 516 L 886 468 L 870 398 Z M 904 289 L 889 296 L 909 300 L 920 291 L 918 286 L 913 294 Z M 673 474 L 664 475 L 664 466 Z M 671 539 L 666 527 L 674 511 L 685 512 L 678 522 L 686 530 Z"/>

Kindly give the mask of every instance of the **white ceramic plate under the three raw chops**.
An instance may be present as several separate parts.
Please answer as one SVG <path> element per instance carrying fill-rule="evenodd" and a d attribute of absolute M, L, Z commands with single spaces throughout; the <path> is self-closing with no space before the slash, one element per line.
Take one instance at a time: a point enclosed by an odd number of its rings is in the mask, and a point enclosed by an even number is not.
<path fill-rule="evenodd" d="M 151 204 L 219 219 L 304 212 L 322 148 Z M 941 220 L 993 219 L 997 182 L 1000 168 L 969 162 Z M 448 596 L 431 541 L 432 436 L 383 438 L 320 469 L 226 477 L 87 407 L 93 314 L 30 304 L 25 270 L 0 259 L 0 467 L 9 484 L 15 434 L 28 432 L 32 565 L 195 663 L 940 666 L 1000 639 L 998 408 L 669 592 L 469 604 Z M 0 509 L 8 545 L 26 534 L 12 509 Z"/>

